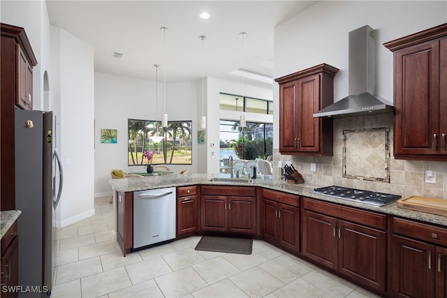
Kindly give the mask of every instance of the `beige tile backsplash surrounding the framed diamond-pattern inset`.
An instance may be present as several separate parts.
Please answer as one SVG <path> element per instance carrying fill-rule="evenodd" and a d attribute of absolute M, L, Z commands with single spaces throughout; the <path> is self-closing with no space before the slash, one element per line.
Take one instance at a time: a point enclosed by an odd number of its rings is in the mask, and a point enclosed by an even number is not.
<path fill-rule="evenodd" d="M 367 181 L 343 177 L 344 130 L 362 130 L 369 128 L 390 128 L 390 183 Z M 369 156 L 364 152 L 361 156 Z M 279 149 L 273 150 L 273 174 L 279 177 L 278 161 L 282 164 L 290 161 L 300 172 L 305 183 L 319 186 L 339 185 L 402 195 L 423 195 L 430 198 L 447 200 L 447 162 L 441 161 L 406 161 L 393 157 L 393 114 L 378 116 L 353 117 L 334 120 L 334 154 L 333 156 L 292 156 L 281 155 Z M 310 164 L 316 163 L 316 171 L 310 171 Z M 367 163 L 361 163 L 365 165 Z M 425 183 L 425 171 L 436 172 L 436 184 Z"/>

